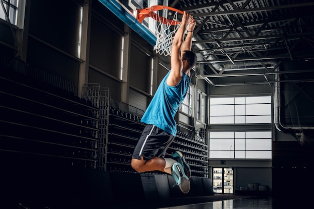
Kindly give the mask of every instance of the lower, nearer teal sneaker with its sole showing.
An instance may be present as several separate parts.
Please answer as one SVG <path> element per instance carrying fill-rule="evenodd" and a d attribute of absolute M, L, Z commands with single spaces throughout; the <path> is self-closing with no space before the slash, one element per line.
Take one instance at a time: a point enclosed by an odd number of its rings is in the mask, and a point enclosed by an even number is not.
<path fill-rule="evenodd" d="M 177 185 L 183 193 L 188 193 L 190 191 L 190 179 L 183 172 L 183 167 L 181 163 L 176 162 L 171 167 L 172 176 L 176 180 Z"/>

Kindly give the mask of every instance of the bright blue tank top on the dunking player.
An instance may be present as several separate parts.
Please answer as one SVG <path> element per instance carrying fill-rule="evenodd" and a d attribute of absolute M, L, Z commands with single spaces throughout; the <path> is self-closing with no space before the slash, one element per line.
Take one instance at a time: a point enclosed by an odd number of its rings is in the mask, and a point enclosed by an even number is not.
<path fill-rule="evenodd" d="M 146 124 L 155 125 L 176 136 L 177 123 L 175 115 L 180 104 L 186 97 L 191 78 L 183 72 L 180 82 L 176 86 L 169 86 L 167 84 L 169 73 L 160 83 L 141 121 Z"/>

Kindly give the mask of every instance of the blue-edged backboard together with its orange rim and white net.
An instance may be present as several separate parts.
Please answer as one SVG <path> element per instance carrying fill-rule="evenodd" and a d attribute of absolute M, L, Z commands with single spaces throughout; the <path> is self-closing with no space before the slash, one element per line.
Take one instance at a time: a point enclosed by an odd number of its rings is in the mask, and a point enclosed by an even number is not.
<path fill-rule="evenodd" d="M 99 0 L 99 2 L 154 46 L 156 53 L 171 55 L 173 38 L 181 25 L 178 14 L 183 15 L 183 11 L 168 7 L 168 0 Z"/>

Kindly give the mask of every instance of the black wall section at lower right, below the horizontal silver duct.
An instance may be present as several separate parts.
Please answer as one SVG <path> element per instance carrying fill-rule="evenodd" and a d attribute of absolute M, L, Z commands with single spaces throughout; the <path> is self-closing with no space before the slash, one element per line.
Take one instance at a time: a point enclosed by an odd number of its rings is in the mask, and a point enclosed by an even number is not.
<path fill-rule="evenodd" d="M 313 151 L 313 146 L 301 146 L 296 141 L 273 142 L 273 196 L 301 199 L 311 196 L 314 187 L 314 181 L 311 180 L 314 171 Z"/>

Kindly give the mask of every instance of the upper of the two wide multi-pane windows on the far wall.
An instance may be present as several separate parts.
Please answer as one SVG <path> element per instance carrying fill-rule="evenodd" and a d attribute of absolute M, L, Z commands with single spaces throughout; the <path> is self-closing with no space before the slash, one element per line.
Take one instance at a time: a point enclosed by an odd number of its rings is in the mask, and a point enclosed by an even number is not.
<path fill-rule="evenodd" d="M 210 99 L 210 124 L 271 123 L 271 97 Z"/>

